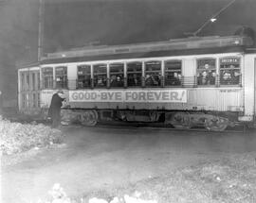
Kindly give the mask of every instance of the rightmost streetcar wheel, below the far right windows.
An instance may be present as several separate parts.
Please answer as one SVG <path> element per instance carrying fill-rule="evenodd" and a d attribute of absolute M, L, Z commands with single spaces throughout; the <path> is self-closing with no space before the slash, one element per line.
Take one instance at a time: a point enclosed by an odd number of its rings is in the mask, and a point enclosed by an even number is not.
<path fill-rule="evenodd" d="M 205 121 L 205 127 L 210 131 L 224 131 L 228 127 L 228 120 L 222 117 L 210 117 Z"/>

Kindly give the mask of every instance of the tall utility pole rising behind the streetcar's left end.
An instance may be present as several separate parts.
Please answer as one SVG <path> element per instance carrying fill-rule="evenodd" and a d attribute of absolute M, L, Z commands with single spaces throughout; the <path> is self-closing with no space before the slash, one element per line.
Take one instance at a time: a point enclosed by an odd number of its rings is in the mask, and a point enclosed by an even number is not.
<path fill-rule="evenodd" d="M 45 0 L 39 0 L 39 16 L 38 16 L 38 51 L 37 59 L 40 61 L 43 57 L 44 44 L 44 24 L 45 24 Z"/>

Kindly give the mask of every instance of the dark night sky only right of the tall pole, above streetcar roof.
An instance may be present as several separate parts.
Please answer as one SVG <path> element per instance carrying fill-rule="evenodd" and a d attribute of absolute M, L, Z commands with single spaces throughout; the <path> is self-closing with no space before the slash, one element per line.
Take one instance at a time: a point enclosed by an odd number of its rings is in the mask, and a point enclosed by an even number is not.
<path fill-rule="evenodd" d="M 101 44 L 120 44 L 182 38 L 185 37 L 184 32 L 196 30 L 229 2 L 81 0 L 74 3 L 59 0 L 57 3 L 46 4 L 45 48 L 46 51 L 53 51 L 95 41 Z M 237 0 L 219 16 L 216 23 L 208 25 L 201 35 L 233 34 L 241 25 L 254 26 L 256 29 L 255 10 L 255 0 Z"/>

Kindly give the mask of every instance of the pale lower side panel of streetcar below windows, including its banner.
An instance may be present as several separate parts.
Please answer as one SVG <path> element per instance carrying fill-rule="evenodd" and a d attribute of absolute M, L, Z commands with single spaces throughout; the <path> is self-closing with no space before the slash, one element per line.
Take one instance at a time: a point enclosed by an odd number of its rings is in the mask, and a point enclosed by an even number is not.
<path fill-rule="evenodd" d="M 74 109 L 244 110 L 242 88 L 78 90 L 69 92 L 69 103 Z"/>

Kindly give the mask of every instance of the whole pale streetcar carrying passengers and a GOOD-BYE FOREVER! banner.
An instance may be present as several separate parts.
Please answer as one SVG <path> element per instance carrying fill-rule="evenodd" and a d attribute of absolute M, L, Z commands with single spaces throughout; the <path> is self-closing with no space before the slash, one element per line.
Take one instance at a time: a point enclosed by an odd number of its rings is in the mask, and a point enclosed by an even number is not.
<path fill-rule="evenodd" d="M 46 114 L 63 90 L 65 121 L 256 127 L 256 49 L 244 35 L 97 45 L 47 53 L 18 68 L 18 104 Z"/>

